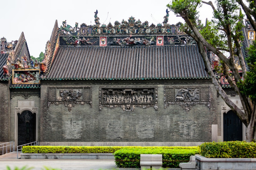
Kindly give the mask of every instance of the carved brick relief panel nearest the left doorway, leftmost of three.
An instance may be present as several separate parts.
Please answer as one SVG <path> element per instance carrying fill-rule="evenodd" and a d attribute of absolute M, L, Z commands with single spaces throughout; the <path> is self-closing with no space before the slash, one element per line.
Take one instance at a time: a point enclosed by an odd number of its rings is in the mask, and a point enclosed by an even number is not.
<path fill-rule="evenodd" d="M 68 111 L 75 104 L 90 104 L 91 105 L 91 88 L 78 87 L 78 88 L 56 88 L 48 87 L 48 107 L 50 104 L 64 104 L 68 107 Z"/>

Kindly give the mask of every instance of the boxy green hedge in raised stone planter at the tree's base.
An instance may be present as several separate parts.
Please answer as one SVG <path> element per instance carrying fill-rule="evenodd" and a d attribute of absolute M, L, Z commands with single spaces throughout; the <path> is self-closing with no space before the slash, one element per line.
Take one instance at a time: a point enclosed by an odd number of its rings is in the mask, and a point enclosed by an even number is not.
<path fill-rule="evenodd" d="M 200 148 L 206 158 L 256 158 L 255 142 L 210 142 L 201 144 Z"/>

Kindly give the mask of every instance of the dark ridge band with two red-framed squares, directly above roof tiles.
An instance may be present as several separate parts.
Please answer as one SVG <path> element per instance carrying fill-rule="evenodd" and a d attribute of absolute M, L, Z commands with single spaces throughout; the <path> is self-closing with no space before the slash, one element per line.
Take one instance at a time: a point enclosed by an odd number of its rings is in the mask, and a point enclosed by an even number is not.
<path fill-rule="evenodd" d="M 61 36 L 60 45 L 68 46 L 149 46 L 192 45 L 196 42 L 188 35 L 136 35 Z"/>

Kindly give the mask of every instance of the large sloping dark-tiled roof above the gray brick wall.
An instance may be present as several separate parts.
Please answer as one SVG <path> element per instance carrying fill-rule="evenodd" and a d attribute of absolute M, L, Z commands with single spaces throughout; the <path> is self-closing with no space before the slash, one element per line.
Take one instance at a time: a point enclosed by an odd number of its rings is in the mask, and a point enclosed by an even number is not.
<path fill-rule="evenodd" d="M 196 45 L 61 46 L 43 79 L 209 78 Z"/>

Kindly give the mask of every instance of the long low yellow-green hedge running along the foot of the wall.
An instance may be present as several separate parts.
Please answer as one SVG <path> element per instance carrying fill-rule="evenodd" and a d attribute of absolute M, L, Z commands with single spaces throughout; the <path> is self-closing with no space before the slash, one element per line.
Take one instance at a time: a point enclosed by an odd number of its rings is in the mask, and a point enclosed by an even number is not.
<path fill-rule="evenodd" d="M 159 148 L 157 146 L 23 146 L 22 153 L 114 153 L 123 148 Z M 163 146 L 161 148 L 186 148 Z M 196 147 L 190 147 L 191 149 Z"/>

